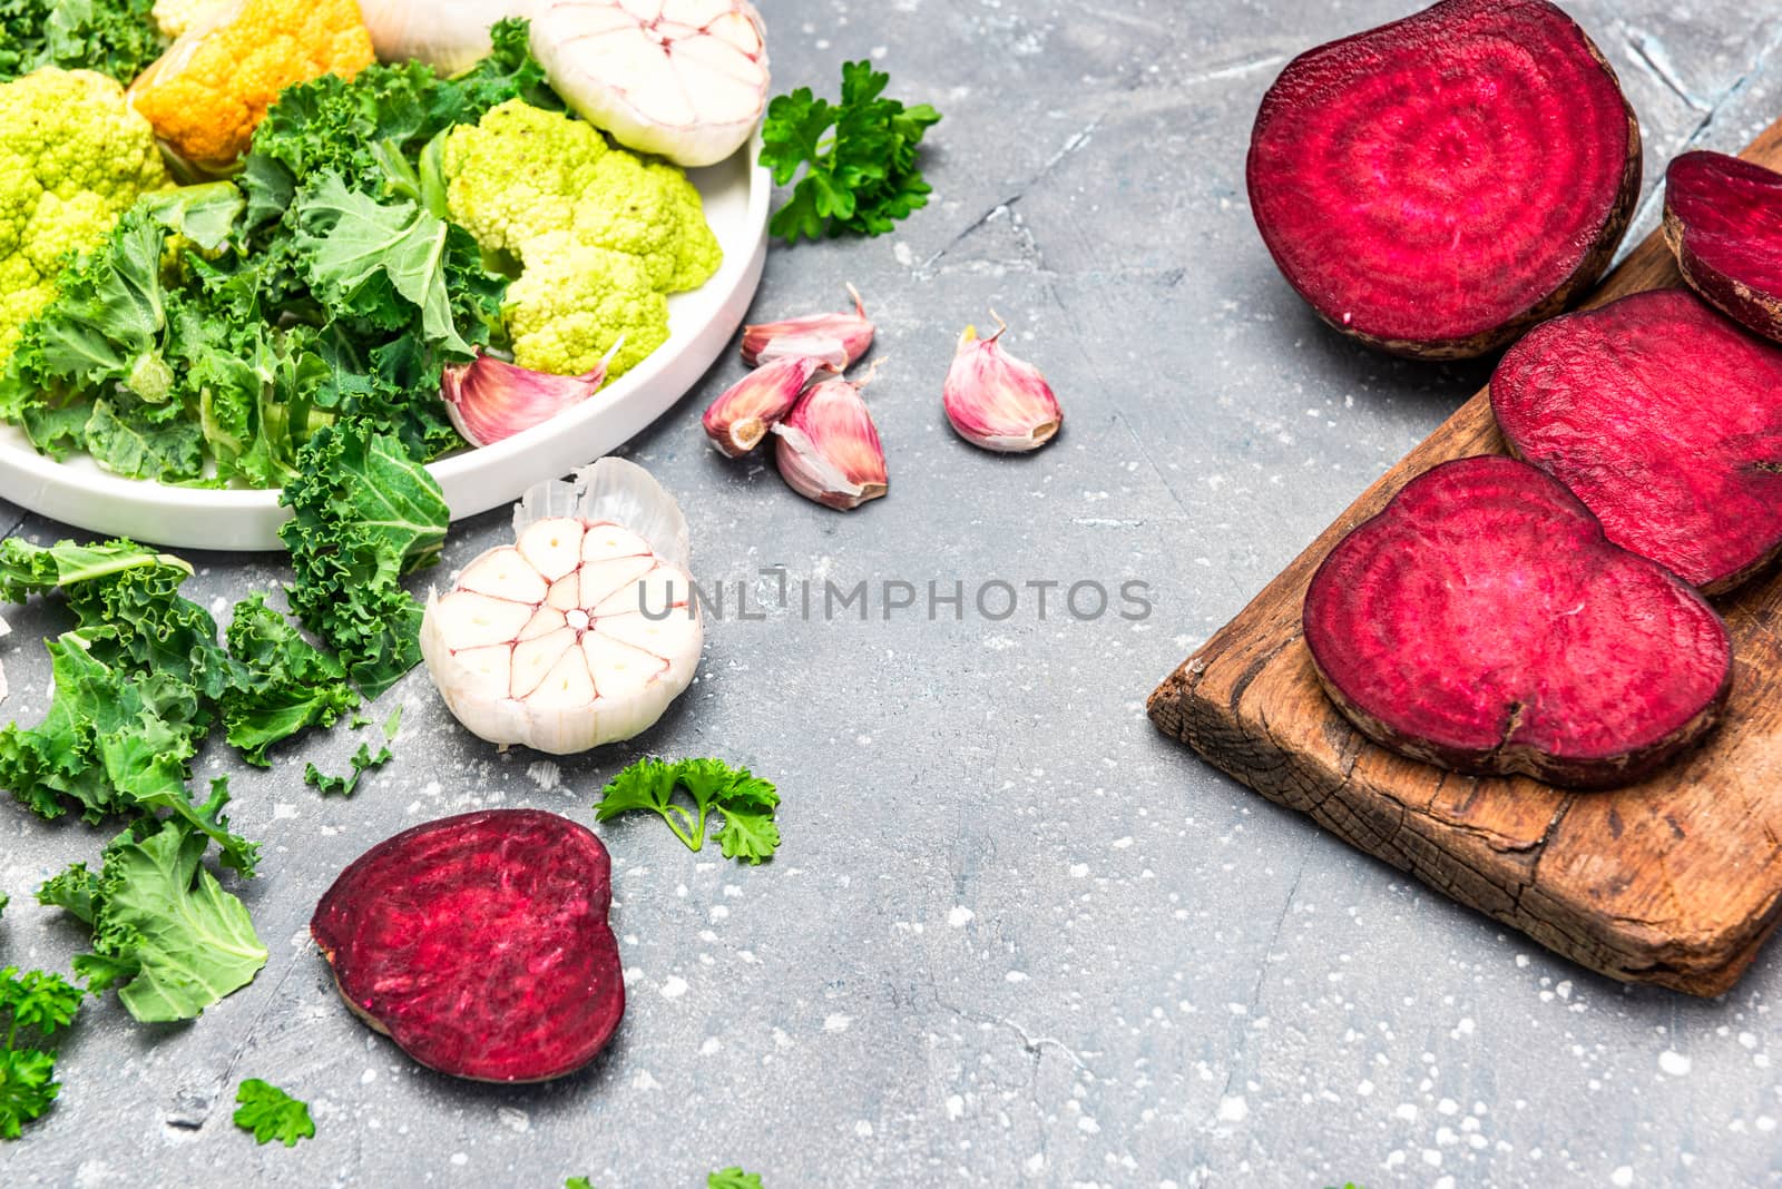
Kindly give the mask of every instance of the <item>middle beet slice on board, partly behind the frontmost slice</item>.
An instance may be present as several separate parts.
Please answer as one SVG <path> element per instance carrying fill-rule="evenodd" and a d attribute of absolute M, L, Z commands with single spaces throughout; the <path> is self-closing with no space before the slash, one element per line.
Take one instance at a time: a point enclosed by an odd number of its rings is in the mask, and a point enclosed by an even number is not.
<path fill-rule="evenodd" d="M 1782 550 L 1782 347 L 1689 290 L 1534 328 L 1499 361 L 1492 411 L 1611 541 L 1704 591 Z"/>

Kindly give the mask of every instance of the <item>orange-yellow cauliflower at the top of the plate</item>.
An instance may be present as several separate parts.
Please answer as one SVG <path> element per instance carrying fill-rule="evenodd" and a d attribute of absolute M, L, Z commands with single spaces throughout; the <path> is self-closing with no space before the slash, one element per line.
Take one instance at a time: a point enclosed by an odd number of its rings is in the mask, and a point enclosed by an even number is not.
<path fill-rule="evenodd" d="M 175 153 L 225 169 L 280 91 L 321 75 L 351 78 L 371 62 L 356 0 L 235 0 L 168 46 L 130 84 L 130 101 Z"/>

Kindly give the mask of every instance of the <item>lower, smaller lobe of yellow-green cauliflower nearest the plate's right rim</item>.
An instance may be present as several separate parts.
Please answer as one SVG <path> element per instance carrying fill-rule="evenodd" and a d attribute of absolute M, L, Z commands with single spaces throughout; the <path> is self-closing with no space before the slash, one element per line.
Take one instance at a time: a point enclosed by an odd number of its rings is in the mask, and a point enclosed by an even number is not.
<path fill-rule="evenodd" d="M 624 336 L 606 368 L 618 376 L 668 342 L 668 299 L 636 256 L 551 231 L 527 240 L 524 260 L 503 310 L 520 367 L 579 376 Z"/>

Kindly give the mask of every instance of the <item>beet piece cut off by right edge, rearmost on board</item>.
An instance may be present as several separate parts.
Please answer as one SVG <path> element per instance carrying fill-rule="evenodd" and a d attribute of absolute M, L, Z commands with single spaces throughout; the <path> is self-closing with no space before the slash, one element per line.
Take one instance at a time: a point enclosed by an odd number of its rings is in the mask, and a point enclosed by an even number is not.
<path fill-rule="evenodd" d="M 1782 342 L 1782 173 L 1684 153 L 1664 171 L 1664 240 L 1689 288 Z"/>

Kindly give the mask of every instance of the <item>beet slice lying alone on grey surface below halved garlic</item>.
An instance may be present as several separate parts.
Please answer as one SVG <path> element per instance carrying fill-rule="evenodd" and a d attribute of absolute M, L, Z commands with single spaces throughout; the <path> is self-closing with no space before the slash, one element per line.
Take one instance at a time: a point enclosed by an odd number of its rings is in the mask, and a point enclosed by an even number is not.
<path fill-rule="evenodd" d="M 592 831 L 486 810 L 365 851 L 310 933 L 353 1011 L 421 1064 L 542 1082 L 588 1064 L 625 1013 L 609 904 Z"/>

